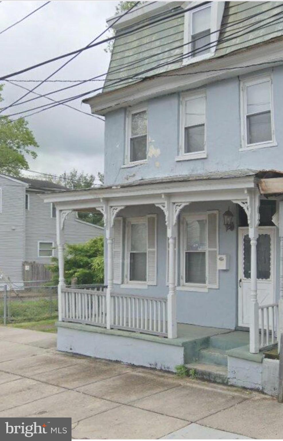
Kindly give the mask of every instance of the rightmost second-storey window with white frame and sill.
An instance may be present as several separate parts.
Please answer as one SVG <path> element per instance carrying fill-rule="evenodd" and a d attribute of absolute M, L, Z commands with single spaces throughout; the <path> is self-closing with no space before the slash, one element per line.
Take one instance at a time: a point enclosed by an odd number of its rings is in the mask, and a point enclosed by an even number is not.
<path fill-rule="evenodd" d="M 274 142 L 271 87 L 270 76 L 243 82 L 244 147 Z"/>

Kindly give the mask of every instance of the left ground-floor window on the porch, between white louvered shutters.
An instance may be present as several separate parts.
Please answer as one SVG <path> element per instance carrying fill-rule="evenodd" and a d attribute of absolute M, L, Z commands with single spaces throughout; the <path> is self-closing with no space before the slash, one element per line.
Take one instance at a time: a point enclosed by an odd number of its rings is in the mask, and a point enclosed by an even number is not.
<path fill-rule="evenodd" d="M 130 281 L 147 280 L 147 221 L 131 223 L 130 228 Z"/>

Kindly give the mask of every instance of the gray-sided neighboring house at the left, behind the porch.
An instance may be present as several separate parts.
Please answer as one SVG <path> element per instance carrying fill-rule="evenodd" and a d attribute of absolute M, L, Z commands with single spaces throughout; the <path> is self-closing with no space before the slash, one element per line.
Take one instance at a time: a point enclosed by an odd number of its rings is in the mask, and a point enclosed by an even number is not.
<path fill-rule="evenodd" d="M 50 276 L 45 265 L 58 255 L 56 209 L 52 203 L 44 204 L 42 195 L 62 190 L 66 187 L 48 181 L 0 174 L 0 286 L 10 280 L 20 288 L 23 280 Z M 99 235 L 103 227 L 81 221 L 77 212 L 66 220 L 67 243 Z"/>

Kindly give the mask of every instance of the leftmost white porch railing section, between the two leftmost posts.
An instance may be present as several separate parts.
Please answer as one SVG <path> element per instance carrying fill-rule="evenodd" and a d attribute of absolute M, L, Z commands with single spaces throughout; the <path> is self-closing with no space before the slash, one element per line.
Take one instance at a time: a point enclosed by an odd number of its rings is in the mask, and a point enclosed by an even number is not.
<path fill-rule="evenodd" d="M 99 289 L 103 289 L 102 287 Z M 96 289 L 63 288 L 62 321 L 106 326 L 106 292 Z"/>

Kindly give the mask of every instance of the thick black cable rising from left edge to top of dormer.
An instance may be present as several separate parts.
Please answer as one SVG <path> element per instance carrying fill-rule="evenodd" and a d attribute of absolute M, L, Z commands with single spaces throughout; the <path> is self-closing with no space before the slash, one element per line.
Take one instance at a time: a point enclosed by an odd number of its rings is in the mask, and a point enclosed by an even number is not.
<path fill-rule="evenodd" d="M 206 1 L 206 2 L 204 2 L 203 4 L 208 4 L 208 3 L 210 3 L 210 2 Z M 112 41 L 112 40 L 114 40 L 115 38 L 117 39 L 117 38 L 124 37 L 125 35 L 134 34 L 134 33 L 138 32 L 139 30 L 144 29 L 145 27 L 148 27 L 148 26 L 154 26 L 155 23 L 159 23 L 159 22 L 161 22 L 161 21 L 164 21 L 164 20 L 169 19 L 169 18 L 171 18 L 171 17 L 174 17 L 174 16 L 176 16 L 176 15 L 180 15 L 180 14 L 184 14 L 185 12 L 192 11 L 193 9 L 196 9 L 197 7 L 199 7 L 199 5 L 195 5 L 195 6 L 192 6 L 192 7 L 187 8 L 187 9 L 184 9 L 184 10 L 182 10 L 182 11 L 175 12 L 174 14 L 171 14 L 171 15 L 168 16 L 168 17 L 163 17 L 163 18 L 161 18 L 161 19 L 158 19 L 157 21 L 153 21 L 153 22 L 151 22 L 151 23 L 147 23 L 147 24 L 145 24 L 145 25 L 143 25 L 143 26 L 140 26 L 139 28 L 131 29 L 131 30 L 128 30 L 128 31 L 126 31 L 126 32 L 124 32 L 124 33 L 121 33 L 121 34 L 115 35 L 115 36 L 113 36 L 113 37 L 105 38 L 104 40 L 100 40 L 100 41 L 98 41 L 98 42 L 96 42 L 96 43 L 93 43 L 92 45 L 87 46 L 87 47 L 84 47 L 84 48 L 81 48 L 81 49 L 76 49 L 76 50 L 74 50 L 74 51 L 72 51 L 72 52 L 67 52 L 67 53 L 65 53 L 65 54 L 63 54 L 63 55 L 59 55 L 59 56 L 57 56 L 57 57 L 50 58 L 50 59 L 48 59 L 48 60 L 46 60 L 46 61 L 43 61 L 43 62 L 41 62 L 41 63 L 34 64 L 33 66 L 26 67 L 25 69 L 21 69 L 20 71 L 16 71 L 16 72 L 13 72 L 13 73 L 11 73 L 11 74 L 4 75 L 4 76 L 0 77 L 0 80 L 5 80 L 5 79 L 7 79 L 7 78 L 11 78 L 11 77 L 13 77 L 13 76 L 15 76 L 15 75 L 19 75 L 19 74 L 22 74 L 22 73 L 24 73 L 24 72 L 27 72 L 27 71 L 30 71 L 30 70 L 36 69 L 37 67 L 44 66 L 45 64 L 52 63 L 53 61 L 61 60 L 62 58 L 66 58 L 67 56 L 71 56 L 71 55 L 74 55 L 74 54 L 76 54 L 76 53 L 78 53 L 78 52 L 82 52 L 82 51 L 85 51 L 85 50 L 87 50 L 87 49 L 94 48 L 94 47 L 96 47 L 96 46 L 102 45 L 103 43 L 107 43 L 108 41 Z"/>

